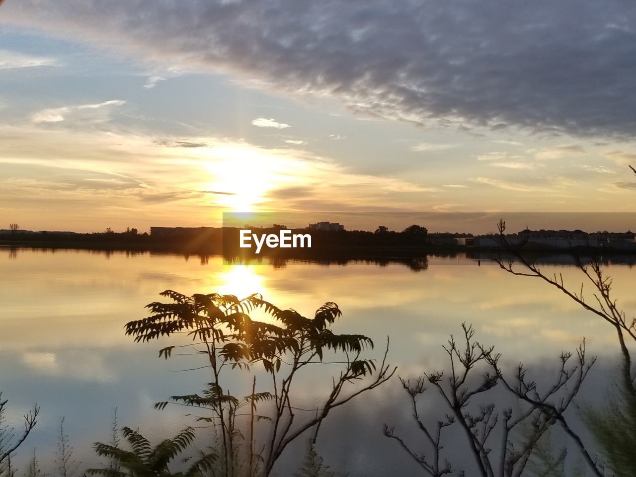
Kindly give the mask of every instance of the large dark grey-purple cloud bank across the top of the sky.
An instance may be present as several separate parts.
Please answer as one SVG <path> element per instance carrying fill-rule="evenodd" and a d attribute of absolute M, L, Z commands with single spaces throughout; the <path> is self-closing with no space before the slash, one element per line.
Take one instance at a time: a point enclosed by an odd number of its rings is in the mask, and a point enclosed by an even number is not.
<path fill-rule="evenodd" d="M 636 9 L 624 0 L 22 0 L 3 5 L 2 20 L 382 118 L 636 130 Z"/>

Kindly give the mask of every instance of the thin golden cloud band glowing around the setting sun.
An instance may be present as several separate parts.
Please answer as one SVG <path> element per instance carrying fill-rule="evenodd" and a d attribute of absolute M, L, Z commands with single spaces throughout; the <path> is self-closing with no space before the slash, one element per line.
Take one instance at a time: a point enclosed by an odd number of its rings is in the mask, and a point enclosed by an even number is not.
<path fill-rule="evenodd" d="M 76 128 L 67 120 L 56 127 L 0 125 L 0 202 L 22 211 L 25 223 L 46 222 L 42 204 L 55 220 L 81 218 L 103 230 L 130 220 L 139 226 L 209 224 L 222 210 L 261 207 L 359 210 L 380 201 L 385 208 L 413 209 L 431 191 L 300 148 L 214 137 L 158 140 L 118 128 Z"/>

